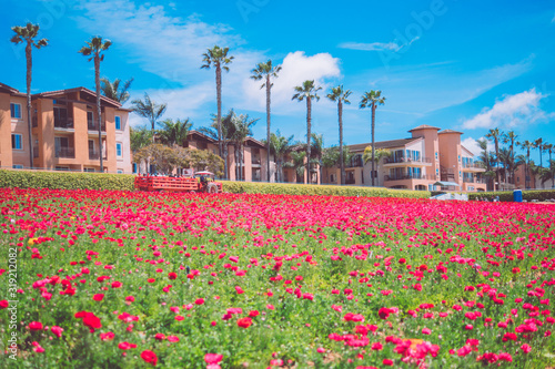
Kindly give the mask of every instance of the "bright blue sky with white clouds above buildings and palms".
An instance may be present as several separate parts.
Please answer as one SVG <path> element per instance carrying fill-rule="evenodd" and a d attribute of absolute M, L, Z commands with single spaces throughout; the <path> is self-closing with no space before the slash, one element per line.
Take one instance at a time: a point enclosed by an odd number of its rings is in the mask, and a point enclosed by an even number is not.
<path fill-rule="evenodd" d="M 293 86 L 315 79 L 313 131 L 337 144 L 336 106 L 325 99 L 340 83 L 353 91 L 344 111 L 347 144 L 370 142 L 364 91 L 382 90 L 376 140 L 405 137 L 430 124 L 464 132 L 465 145 L 492 127 L 521 140 L 555 143 L 555 3 L 553 1 L 133 1 L 8 0 L 0 14 L 0 82 L 24 91 L 24 51 L 9 42 L 11 25 L 41 25 L 50 45 L 33 53 L 33 92 L 93 88 L 92 62 L 78 54 L 91 35 L 113 41 L 101 65 L 110 79 L 134 78 L 132 99 L 148 92 L 167 102 L 164 117 L 193 127 L 215 113 L 213 70 L 201 70 L 214 44 L 235 57 L 223 75 L 223 110 L 261 120 L 265 95 L 249 79 L 258 62 L 283 64 L 274 81 L 272 131 L 305 140 L 305 104 Z M 128 102 L 129 105 L 129 102 Z M 145 124 L 132 114 L 132 124 Z M 537 153 L 534 154 L 536 158 Z M 545 156 L 544 156 L 545 157 Z M 536 158 L 537 161 L 537 158 Z"/>

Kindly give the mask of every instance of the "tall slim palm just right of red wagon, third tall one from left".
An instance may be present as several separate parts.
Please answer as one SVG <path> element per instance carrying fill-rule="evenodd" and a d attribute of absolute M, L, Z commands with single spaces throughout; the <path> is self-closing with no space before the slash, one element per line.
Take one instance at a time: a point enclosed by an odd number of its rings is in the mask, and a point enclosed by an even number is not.
<path fill-rule="evenodd" d="M 220 157 L 223 155 L 222 147 L 222 69 L 225 72 L 230 71 L 228 66 L 233 61 L 233 57 L 228 57 L 228 52 L 230 48 L 220 48 L 214 45 L 212 49 L 208 49 L 205 53 L 202 54 L 202 64 L 201 69 L 210 69 L 212 64 L 215 68 L 215 90 L 216 90 L 216 100 L 218 100 L 218 147 L 220 150 Z M 228 177 L 228 156 L 222 157 L 224 163 L 224 177 Z"/>

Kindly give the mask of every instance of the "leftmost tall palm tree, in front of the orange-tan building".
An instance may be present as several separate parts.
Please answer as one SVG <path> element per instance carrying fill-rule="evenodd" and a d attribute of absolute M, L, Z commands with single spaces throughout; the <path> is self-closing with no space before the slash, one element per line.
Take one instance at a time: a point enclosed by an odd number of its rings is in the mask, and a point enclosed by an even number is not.
<path fill-rule="evenodd" d="M 40 49 L 48 45 L 48 39 L 36 40 L 39 35 L 39 24 L 31 22 L 27 25 L 16 25 L 11 30 L 16 34 L 11 38 L 11 42 L 19 44 L 26 42 L 26 60 L 27 60 L 27 129 L 29 134 L 29 163 L 31 170 L 33 168 L 33 140 L 32 140 L 32 123 L 31 123 L 31 81 L 32 81 L 32 48 Z"/>

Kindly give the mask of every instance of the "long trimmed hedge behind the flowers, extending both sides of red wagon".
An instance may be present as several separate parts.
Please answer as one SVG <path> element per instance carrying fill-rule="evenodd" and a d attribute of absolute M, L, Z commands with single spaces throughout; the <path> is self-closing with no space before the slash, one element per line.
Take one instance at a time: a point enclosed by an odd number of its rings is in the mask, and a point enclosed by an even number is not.
<path fill-rule="evenodd" d="M 0 187 L 59 189 L 133 189 L 131 174 L 32 172 L 0 170 Z M 221 181 L 223 192 L 233 194 L 367 196 L 428 198 L 428 191 L 407 191 L 354 186 L 304 185 Z"/>

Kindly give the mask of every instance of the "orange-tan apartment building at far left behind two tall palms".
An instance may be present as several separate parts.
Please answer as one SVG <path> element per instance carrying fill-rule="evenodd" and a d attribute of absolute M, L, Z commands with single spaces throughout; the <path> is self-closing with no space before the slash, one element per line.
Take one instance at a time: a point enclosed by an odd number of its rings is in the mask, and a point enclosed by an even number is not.
<path fill-rule="evenodd" d="M 43 170 L 132 173 L 130 110 L 101 96 L 101 140 L 97 95 L 85 88 L 32 95 L 33 167 Z M 30 167 L 27 96 L 0 83 L 0 166 Z"/>

